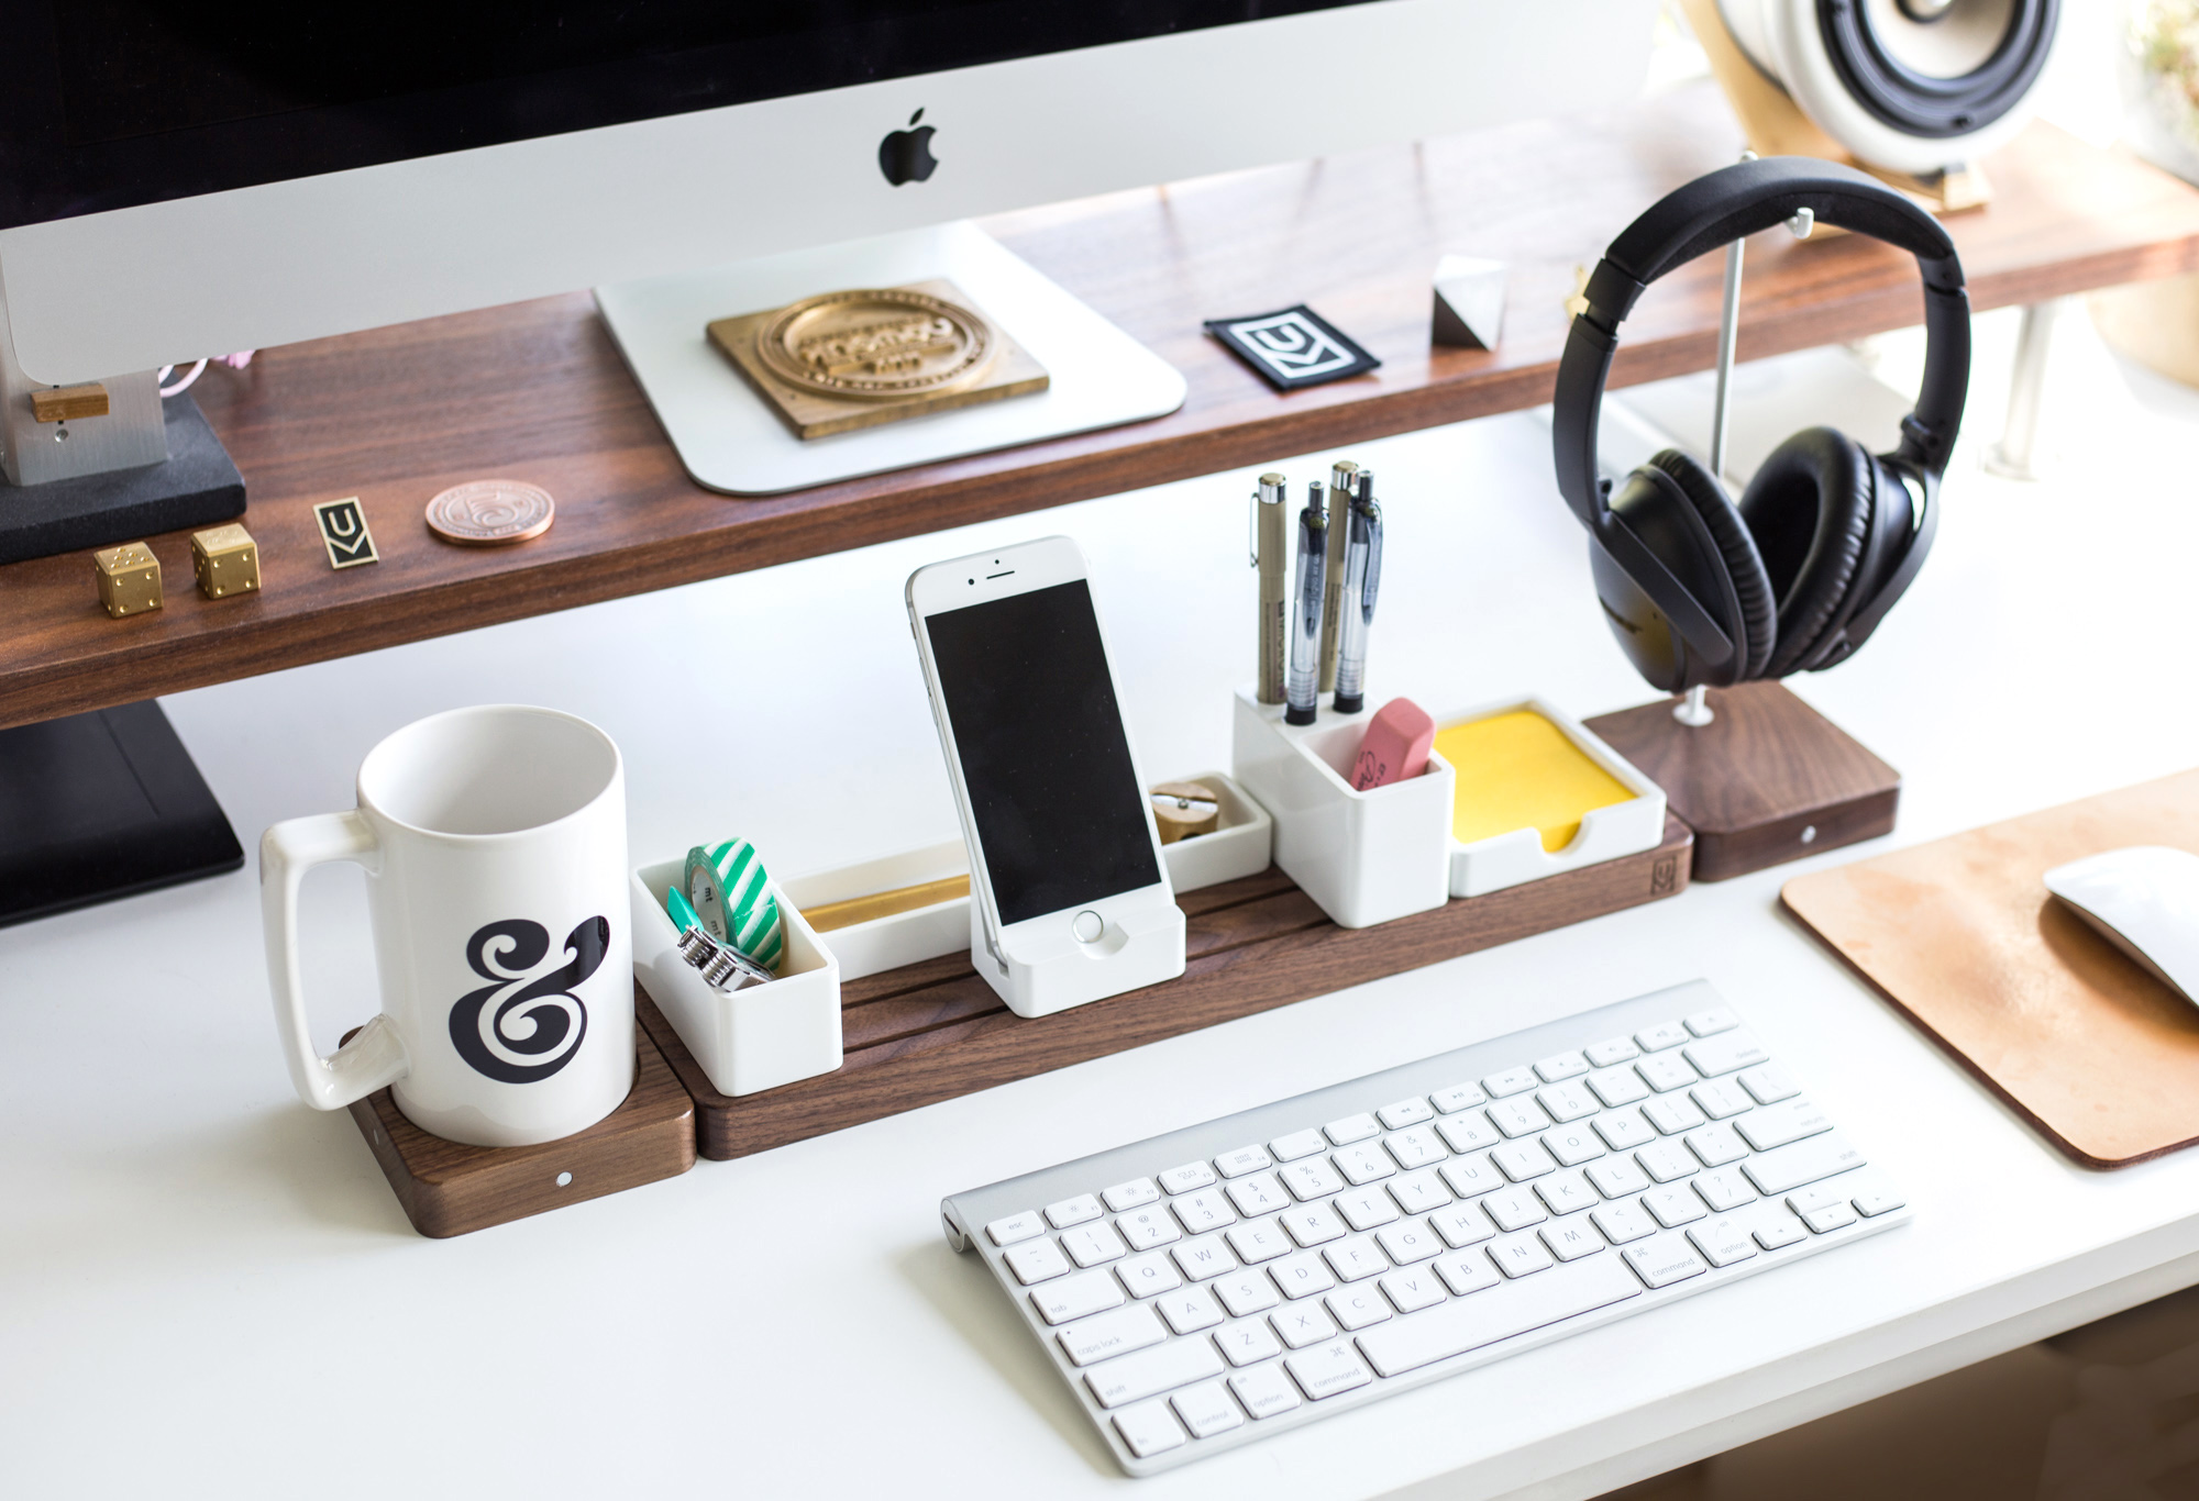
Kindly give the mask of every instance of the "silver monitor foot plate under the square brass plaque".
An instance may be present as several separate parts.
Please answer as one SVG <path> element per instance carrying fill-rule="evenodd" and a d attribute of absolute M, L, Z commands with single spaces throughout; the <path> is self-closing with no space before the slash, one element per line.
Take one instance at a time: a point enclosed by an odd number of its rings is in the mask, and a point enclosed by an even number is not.
<path fill-rule="evenodd" d="M 946 277 L 1047 367 L 1051 385 L 906 422 L 800 440 L 704 327 L 847 288 Z M 1163 418 L 1183 376 L 968 220 L 596 288 L 596 305 L 697 483 L 778 494 L 913 464 Z"/>

